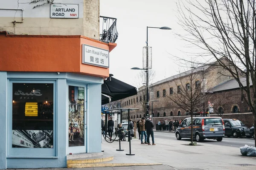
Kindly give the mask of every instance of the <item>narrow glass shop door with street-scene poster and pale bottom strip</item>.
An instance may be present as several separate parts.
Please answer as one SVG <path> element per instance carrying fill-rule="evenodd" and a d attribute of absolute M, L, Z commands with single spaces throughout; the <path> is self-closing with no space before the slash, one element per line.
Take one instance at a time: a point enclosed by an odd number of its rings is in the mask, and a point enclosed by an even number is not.
<path fill-rule="evenodd" d="M 86 86 L 68 86 L 68 151 L 86 152 Z"/>

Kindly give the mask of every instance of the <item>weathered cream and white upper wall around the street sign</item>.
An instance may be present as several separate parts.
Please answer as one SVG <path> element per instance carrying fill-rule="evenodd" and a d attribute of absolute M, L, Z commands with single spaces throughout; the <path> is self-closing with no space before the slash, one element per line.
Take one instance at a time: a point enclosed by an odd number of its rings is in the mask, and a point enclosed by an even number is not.
<path fill-rule="evenodd" d="M 78 19 L 50 18 L 50 4 L 44 4 L 47 1 L 31 2 L 0 0 L 0 30 L 14 34 L 84 35 L 99 39 L 99 0 L 53 0 L 56 4 L 79 4 Z M 37 5 L 42 6 L 35 7 Z M 14 9 L 23 9 L 23 13 Z"/>

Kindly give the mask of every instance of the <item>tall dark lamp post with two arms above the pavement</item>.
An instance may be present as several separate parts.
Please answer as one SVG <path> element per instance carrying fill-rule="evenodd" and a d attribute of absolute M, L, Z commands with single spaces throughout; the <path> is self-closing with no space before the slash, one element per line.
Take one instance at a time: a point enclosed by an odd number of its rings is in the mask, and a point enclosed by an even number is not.
<path fill-rule="evenodd" d="M 148 28 L 159 28 L 159 29 L 164 29 L 164 30 L 170 30 L 172 28 L 169 28 L 169 27 L 149 27 L 147 26 L 147 41 L 146 41 L 146 67 L 143 68 L 143 69 L 140 69 L 139 70 L 145 70 L 146 72 L 146 102 L 145 102 L 145 105 L 146 105 L 146 116 L 148 117 L 149 116 L 149 113 L 148 113 L 148 108 L 149 108 L 149 105 L 148 105 L 148 69 L 151 69 L 148 67 Z M 131 68 L 133 69 L 133 68 Z M 135 69 L 135 70 L 138 70 L 138 69 Z"/>

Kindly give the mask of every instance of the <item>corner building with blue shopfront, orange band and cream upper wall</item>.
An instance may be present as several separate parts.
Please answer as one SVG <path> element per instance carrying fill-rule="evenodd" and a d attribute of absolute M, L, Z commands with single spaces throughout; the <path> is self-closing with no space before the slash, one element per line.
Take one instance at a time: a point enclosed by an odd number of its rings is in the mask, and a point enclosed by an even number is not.
<path fill-rule="evenodd" d="M 0 6 L 0 169 L 67 167 L 69 153 L 100 153 L 117 32 L 100 34 L 99 0 Z"/>

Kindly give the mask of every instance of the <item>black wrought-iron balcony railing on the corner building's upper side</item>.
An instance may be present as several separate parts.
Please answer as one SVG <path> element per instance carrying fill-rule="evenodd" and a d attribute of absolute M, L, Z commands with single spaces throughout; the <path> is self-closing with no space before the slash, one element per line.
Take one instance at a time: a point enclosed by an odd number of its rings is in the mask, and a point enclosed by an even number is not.
<path fill-rule="evenodd" d="M 116 42 L 118 33 L 116 30 L 116 18 L 111 17 L 100 17 L 100 26 L 102 26 L 102 33 L 99 34 L 100 41 L 102 42 Z"/>

